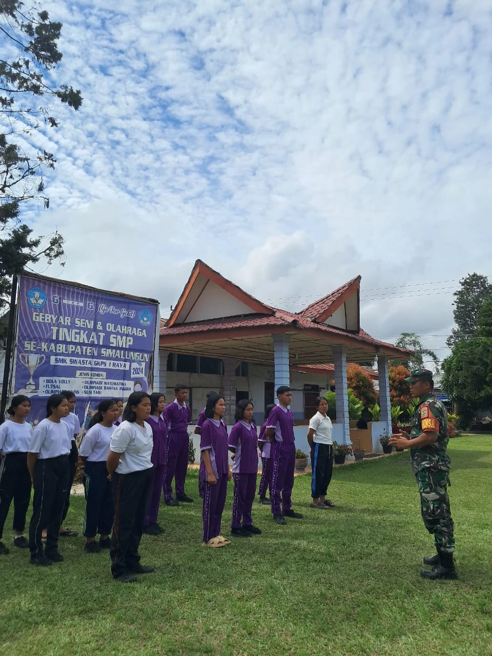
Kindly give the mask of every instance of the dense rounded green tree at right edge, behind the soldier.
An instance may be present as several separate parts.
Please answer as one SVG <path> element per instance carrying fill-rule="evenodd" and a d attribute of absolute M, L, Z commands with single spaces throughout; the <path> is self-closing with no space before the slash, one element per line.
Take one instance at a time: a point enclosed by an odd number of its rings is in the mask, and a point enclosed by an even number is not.
<path fill-rule="evenodd" d="M 443 361 L 441 388 L 455 403 L 461 426 L 492 408 L 492 299 L 483 302 L 476 324 L 477 337 L 456 342 Z"/>

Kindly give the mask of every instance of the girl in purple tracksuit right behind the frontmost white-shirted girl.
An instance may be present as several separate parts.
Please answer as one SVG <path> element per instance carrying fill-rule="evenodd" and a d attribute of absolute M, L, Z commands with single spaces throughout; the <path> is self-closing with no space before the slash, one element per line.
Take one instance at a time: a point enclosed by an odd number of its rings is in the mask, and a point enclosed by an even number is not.
<path fill-rule="evenodd" d="M 161 414 L 166 405 L 166 398 L 161 392 L 150 395 L 150 417 L 147 420 L 152 428 L 154 446 L 152 447 L 151 461 L 154 467 L 154 481 L 150 490 L 150 497 L 145 516 L 144 533 L 147 535 L 159 535 L 164 533 L 163 527 L 157 523 L 159 514 L 159 502 L 164 487 L 164 474 L 166 470 L 166 448 L 167 448 L 167 423 Z"/>

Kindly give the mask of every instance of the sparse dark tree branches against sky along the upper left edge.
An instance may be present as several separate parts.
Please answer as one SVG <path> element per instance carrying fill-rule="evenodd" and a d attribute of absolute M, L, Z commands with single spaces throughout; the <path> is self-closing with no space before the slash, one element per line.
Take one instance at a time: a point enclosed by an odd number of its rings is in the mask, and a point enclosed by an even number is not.
<path fill-rule="evenodd" d="M 62 59 L 58 39 L 62 24 L 47 11 L 26 9 L 20 0 L 0 0 L 0 306 L 10 293 L 10 277 L 45 258 L 49 264 L 63 255 L 63 237 L 33 236 L 19 219 L 24 203 L 35 199 L 49 207 L 43 172 L 54 168 L 52 153 L 36 151 L 30 136 L 58 121 L 43 100 L 56 99 L 74 110 L 81 106 L 79 90 L 52 87 L 47 73 Z"/>

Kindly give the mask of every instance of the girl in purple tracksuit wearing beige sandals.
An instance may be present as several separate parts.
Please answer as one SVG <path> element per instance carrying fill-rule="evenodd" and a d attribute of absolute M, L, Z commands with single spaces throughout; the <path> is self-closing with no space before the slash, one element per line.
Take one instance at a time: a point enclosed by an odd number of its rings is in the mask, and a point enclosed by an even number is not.
<path fill-rule="evenodd" d="M 222 417 L 226 411 L 224 397 L 214 394 L 207 401 L 200 434 L 200 453 L 205 467 L 203 493 L 202 546 L 219 547 L 230 544 L 220 535 L 220 522 L 226 504 L 227 483 L 231 480 L 227 451 L 227 428 Z"/>

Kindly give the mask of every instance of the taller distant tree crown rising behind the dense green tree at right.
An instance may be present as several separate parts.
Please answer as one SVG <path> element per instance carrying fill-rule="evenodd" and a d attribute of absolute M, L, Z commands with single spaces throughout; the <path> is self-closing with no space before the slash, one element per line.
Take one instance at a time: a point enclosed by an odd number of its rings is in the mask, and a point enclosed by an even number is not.
<path fill-rule="evenodd" d="M 453 294 L 453 317 L 456 327 L 446 340 L 453 347 L 461 340 L 476 337 L 478 331 L 478 313 L 485 299 L 492 297 L 492 285 L 487 276 L 473 273 L 460 280 L 460 289 Z"/>

